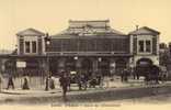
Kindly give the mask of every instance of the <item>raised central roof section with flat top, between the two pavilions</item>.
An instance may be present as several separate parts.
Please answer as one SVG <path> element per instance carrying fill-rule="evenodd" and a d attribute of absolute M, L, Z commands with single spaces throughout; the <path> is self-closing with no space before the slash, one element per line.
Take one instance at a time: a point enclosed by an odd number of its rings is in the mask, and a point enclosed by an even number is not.
<path fill-rule="evenodd" d="M 62 32 L 53 35 L 78 35 L 78 36 L 90 36 L 90 35 L 125 35 L 124 33 L 116 31 L 110 26 L 109 20 L 101 21 L 69 21 L 69 28 Z"/>

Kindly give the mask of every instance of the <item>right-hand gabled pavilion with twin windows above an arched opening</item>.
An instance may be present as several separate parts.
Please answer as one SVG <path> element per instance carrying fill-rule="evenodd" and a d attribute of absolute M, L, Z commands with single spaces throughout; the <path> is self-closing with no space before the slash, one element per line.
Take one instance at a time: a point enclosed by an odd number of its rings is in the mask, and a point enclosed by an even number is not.
<path fill-rule="evenodd" d="M 147 26 L 129 33 L 134 38 L 132 46 L 134 48 L 134 66 L 137 65 L 138 61 L 144 58 L 150 59 L 155 65 L 159 66 L 159 32 Z"/>

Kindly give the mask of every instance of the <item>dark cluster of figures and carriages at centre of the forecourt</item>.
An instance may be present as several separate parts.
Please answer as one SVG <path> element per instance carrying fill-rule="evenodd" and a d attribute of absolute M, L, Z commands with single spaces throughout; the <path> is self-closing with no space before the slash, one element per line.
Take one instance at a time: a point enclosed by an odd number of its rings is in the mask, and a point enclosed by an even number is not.
<path fill-rule="evenodd" d="M 109 80 L 107 80 L 109 81 Z M 92 74 L 89 76 L 86 73 L 82 74 L 73 74 L 62 72 L 59 77 L 60 87 L 62 89 L 62 97 L 64 100 L 67 100 L 66 94 L 70 90 L 71 84 L 77 84 L 79 87 L 79 90 L 86 90 L 89 88 L 95 88 L 99 86 L 100 88 L 103 88 L 104 86 L 104 76 L 101 74 Z M 106 82 L 109 86 L 109 82 Z"/>

